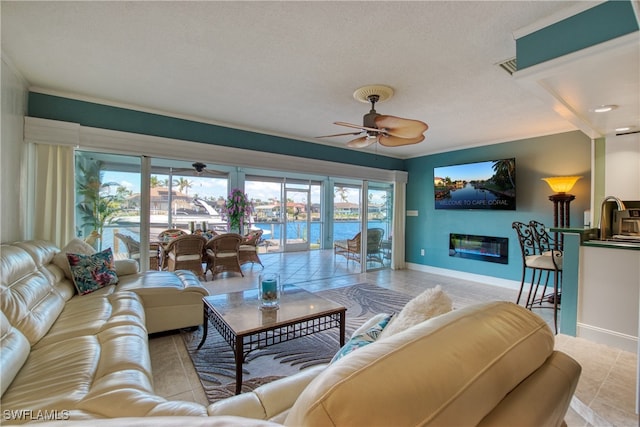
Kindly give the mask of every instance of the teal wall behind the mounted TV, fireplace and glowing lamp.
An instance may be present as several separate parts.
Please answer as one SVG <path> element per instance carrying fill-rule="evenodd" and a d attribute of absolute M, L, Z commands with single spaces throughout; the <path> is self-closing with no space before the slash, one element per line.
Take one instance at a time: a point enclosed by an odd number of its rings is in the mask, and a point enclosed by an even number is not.
<path fill-rule="evenodd" d="M 511 157 L 516 159 L 515 211 L 435 210 L 434 167 Z M 590 206 L 591 140 L 579 131 L 419 157 L 406 165 L 407 210 L 418 211 L 417 217 L 407 217 L 405 246 L 410 263 L 519 281 L 522 262 L 511 223 L 535 219 L 553 225 L 553 204 L 548 199 L 553 192 L 541 179 L 583 176 L 571 191 L 576 196 L 570 206 L 571 226 L 583 225 L 584 211 Z M 449 233 L 507 237 L 509 263 L 450 257 Z M 424 256 L 420 249 L 425 249 Z"/>

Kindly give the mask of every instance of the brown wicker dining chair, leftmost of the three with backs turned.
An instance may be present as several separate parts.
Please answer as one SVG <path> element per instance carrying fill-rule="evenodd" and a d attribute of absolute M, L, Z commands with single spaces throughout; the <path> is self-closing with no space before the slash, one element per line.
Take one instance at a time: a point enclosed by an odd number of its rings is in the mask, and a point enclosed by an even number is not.
<path fill-rule="evenodd" d="M 171 240 L 162 249 L 163 270 L 191 270 L 198 277 L 203 277 L 202 258 L 207 239 L 194 234 L 187 234 Z"/>

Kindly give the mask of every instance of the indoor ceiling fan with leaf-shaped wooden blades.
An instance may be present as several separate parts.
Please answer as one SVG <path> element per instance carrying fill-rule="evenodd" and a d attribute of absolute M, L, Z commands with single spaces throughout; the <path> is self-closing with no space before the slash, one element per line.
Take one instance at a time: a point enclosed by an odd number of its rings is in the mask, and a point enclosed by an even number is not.
<path fill-rule="evenodd" d="M 398 147 L 424 141 L 424 132 L 429 129 L 426 123 L 420 120 L 403 119 L 376 112 L 376 103 L 386 101 L 392 95 L 393 89 L 388 86 L 372 85 L 361 87 L 353 93 L 353 97 L 358 101 L 371 103 L 371 110 L 364 115 L 362 125 L 334 122 L 336 125 L 359 129 L 359 131 L 323 135 L 317 138 L 361 135 L 364 133 L 364 136 L 352 139 L 347 143 L 347 146 L 352 148 L 364 148 L 376 142 L 386 147 Z"/>

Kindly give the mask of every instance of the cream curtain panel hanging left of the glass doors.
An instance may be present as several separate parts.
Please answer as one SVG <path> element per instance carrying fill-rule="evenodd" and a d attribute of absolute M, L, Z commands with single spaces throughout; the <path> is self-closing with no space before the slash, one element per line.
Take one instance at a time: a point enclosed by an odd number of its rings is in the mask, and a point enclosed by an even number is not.
<path fill-rule="evenodd" d="M 34 237 L 63 247 L 75 236 L 74 151 L 35 144 Z"/>

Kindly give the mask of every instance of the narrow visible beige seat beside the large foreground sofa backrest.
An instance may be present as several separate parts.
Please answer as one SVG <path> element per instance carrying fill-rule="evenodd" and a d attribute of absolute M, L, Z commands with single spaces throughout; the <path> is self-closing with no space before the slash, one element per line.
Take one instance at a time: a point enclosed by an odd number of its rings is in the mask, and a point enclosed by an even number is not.
<path fill-rule="evenodd" d="M 219 400 L 209 405 L 207 412 L 209 415 L 235 415 L 259 420 L 284 419 L 302 390 L 325 368 L 324 364 L 317 365 L 262 385 L 252 392 Z"/>

